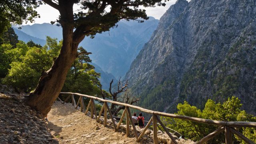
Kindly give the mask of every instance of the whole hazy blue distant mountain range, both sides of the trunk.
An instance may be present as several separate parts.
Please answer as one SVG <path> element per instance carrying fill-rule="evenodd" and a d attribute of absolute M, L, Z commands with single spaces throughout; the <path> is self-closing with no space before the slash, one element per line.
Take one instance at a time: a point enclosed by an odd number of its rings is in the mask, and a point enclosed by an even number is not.
<path fill-rule="evenodd" d="M 108 32 L 96 34 L 95 38 L 86 37 L 80 43 L 90 54 L 96 72 L 101 73 L 102 87 L 108 90 L 112 79 L 124 76 L 130 68 L 130 64 L 140 52 L 142 46 L 149 40 L 152 32 L 156 29 L 159 20 L 150 17 L 142 23 L 136 20 L 122 20 L 116 28 Z M 40 45 L 46 43 L 46 36 L 62 39 L 60 26 L 43 23 L 22 26 L 19 30 L 13 26 L 18 39 L 24 42 L 29 40 Z"/>

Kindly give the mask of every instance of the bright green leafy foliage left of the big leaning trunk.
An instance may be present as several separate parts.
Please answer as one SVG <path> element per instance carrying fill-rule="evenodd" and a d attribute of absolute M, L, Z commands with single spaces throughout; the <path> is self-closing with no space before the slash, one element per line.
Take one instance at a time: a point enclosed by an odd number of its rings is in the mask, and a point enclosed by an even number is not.
<path fill-rule="evenodd" d="M 47 37 L 49 42 L 56 41 Z M 40 78 L 41 72 L 52 65 L 52 58 L 58 56 L 62 44 L 49 45 L 43 48 L 28 47 L 24 42 L 19 42 L 16 48 L 5 50 L 10 63 L 7 76 L 3 79 L 5 84 L 14 86 L 18 90 L 30 92 L 33 90 Z"/>

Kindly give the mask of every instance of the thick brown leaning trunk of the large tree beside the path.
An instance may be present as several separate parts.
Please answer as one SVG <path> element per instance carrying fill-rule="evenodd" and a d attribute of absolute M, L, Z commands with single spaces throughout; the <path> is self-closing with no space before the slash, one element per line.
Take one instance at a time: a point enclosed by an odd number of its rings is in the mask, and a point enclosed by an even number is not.
<path fill-rule="evenodd" d="M 64 20 L 72 20 L 72 6 L 68 4 L 66 6 L 68 6 L 68 8 L 64 8 L 60 11 L 60 14 Z M 63 46 L 60 50 L 60 54 L 50 70 L 42 73 L 38 86 L 25 99 L 25 103 L 28 106 L 41 112 L 43 116 L 47 115 L 52 104 L 60 94 L 68 70 L 77 57 L 77 47 L 79 43 L 73 42 L 73 28 L 73 24 L 66 22 L 62 24 Z"/>

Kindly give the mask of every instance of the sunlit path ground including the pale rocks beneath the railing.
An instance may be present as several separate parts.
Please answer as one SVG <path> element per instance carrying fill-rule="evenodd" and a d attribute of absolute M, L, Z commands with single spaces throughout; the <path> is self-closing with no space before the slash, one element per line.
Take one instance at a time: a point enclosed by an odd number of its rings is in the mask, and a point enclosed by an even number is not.
<path fill-rule="evenodd" d="M 137 143 L 131 125 L 130 136 L 126 137 L 125 124 L 122 124 L 118 132 L 115 132 L 110 119 L 107 120 L 107 127 L 104 127 L 103 117 L 97 123 L 95 119 L 85 116 L 83 112 L 74 109 L 74 106 L 69 103 L 55 102 L 48 114 L 47 123 L 52 135 L 60 144 L 153 144 L 153 132 L 150 129 Z M 143 129 L 136 126 L 136 130 L 140 134 Z M 173 137 L 178 144 L 194 144 L 191 140 L 178 140 L 177 136 L 173 135 Z M 160 130 L 158 130 L 158 143 L 173 144 L 168 135 Z"/>

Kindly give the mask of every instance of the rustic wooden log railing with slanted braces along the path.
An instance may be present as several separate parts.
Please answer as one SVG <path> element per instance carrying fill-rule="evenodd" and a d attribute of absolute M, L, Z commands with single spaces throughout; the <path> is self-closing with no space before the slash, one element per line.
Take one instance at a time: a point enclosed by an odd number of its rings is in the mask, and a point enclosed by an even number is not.
<path fill-rule="evenodd" d="M 94 96 L 88 96 L 88 95 L 85 95 L 85 94 L 78 94 L 78 93 L 72 93 L 72 92 L 61 92 L 60 94 L 70 94 L 63 102 L 61 100 L 60 101 L 62 103 L 64 103 L 71 97 L 72 104 L 74 106 L 76 106 L 76 108 L 80 104 L 80 107 L 81 107 L 80 110 L 81 110 L 81 112 L 84 111 L 84 114 L 87 114 L 88 111 L 89 111 L 89 108 L 90 108 L 91 118 L 93 118 L 93 115 L 94 115 L 97 122 L 99 121 L 100 116 L 101 116 L 102 112 L 104 111 L 104 126 L 107 125 L 107 111 L 108 111 L 109 116 L 110 116 L 110 118 L 113 122 L 113 126 L 114 126 L 115 131 L 117 131 L 120 128 L 120 124 L 122 123 L 122 120 L 124 119 L 124 116 L 126 116 L 126 136 L 130 135 L 129 125 L 131 123 L 137 142 L 142 138 L 142 136 L 146 132 L 147 128 L 150 126 L 151 122 L 153 122 L 153 140 L 154 140 L 154 144 L 158 143 L 158 138 L 157 138 L 158 124 L 157 123 L 159 123 L 162 126 L 162 128 L 164 129 L 166 134 L 170 137 L 170 139 L 174 142 L 174 144 L 178 144 L 176 142 L 176 140 L 174 139 L 174 137 L 170 134 L 169 130 L 164 126 L 164 124 L 162 123 L 162 121 L 158 117 L 158 116 L 166 116 L 166 117 L 170 117 L 170 118 L 177 118 L 177 119 L 182 119 L 182 120 L 189 120 L 189 121 L 200 122 L 200 123 L 204 123 L 204 124 L 212 124 L 212 125 L 220 126 L 217 130 L 215 130 L 214 132 L 208 134 L 207 136 L 205 136 L 204 138 L 199 140 L 197 142 L 197 144 L 204 144 L 205 142 L 214 138 L 215 136 L 217 136 L 218 134 L 220 134 L 223 131 L 225 132 L 225 143 L 226 144 L 232 144 L 232 134 L 235 134 L 236 136 L 238 136 L 239 138 L 241 138 L 242 140 L 244 140 L 248 144 L 255 144 L 252 140 L 246 138 L 246 136 L 244 136 L 243 134 L 238 132 L 234 127 L 252 127 L 252 128 L 256 128 L 256 122 L 224 122 L 224 121 L 217 121 L 217 120 L 208 120 L 208 119 L 202 119 L 202 118 L 194 118 L 194 117 L 190 117 L 190 116 L 168 114 L 168 113 L 164 113 L 164 112 L 156 112 L 156 111 L 153 111 L 153 110 L 147 110 L 145 108 L 141 108 L 139 106 L 133 106 L 133 105 L 130 105 L 130 104 L 115 102 L 115 101 L 112 101 L 112 100 L 104 100 L 102 98 L 97 98 L 97 97 L 94 97 Z M 75 102 L 74 95 L 79 96 L 79 100 L 78 100 L 77 104 Z M 90 98 L 90 102 L 89 102 L 86 110 L 85 110 L 85 106 L 84 106 L 83 97 Z M 98 116 L 97 116 L 94 100 L 99 100 L 101 102 L 104 102 Z M 114 118 L 111 114 L 110 108 L 108 107 L 107 102 L 112 103 L 112 104 L 118 104 L 118 105 L 125 106 L 124 112 L 123 112 L 117 126 L 116 126 Z M 132 115 L 131 115 L 131 112 L 130 112 L 130 108 L 135 108 L 135 109 L 140 110 L 142 112 L 152 114 L 152 117 L 150 118 L 148 124 L 146 125 L 146 127 L 144 128 L 144 130 L 141 132 L 140 135 L 138 135 L 136 127 L 135 127 L 135 125 L 132 121 Z"/>

